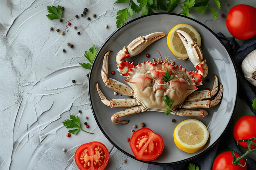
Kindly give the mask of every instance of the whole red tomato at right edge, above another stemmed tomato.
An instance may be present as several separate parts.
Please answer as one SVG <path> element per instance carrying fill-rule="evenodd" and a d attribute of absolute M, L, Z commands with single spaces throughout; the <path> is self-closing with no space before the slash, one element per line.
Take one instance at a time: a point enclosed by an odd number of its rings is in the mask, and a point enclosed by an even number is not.
<path fill-rule="evenodd" d="M 238 121 L 236 121 L 233 134 L 236 141 L 253 137 L 256 138 L 256 116 L 246 115 L 240 117 Z M 253 142 L 256 142 L 256 139 L 254 139 Z M 238 144 L 248 149 L 246 142 L 238 142 Z M 251 148 L 255 149 L 256 146 L 251 145 Z"/>

